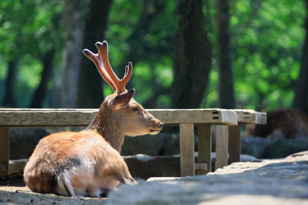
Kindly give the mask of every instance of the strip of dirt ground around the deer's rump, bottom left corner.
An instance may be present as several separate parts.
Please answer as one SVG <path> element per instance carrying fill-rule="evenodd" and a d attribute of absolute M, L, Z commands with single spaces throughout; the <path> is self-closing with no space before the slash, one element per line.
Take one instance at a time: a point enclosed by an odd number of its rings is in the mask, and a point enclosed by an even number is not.
<path fill-rule="evenodd" d="M 79 198 L 54 194 L 37 194 L 22 179 L 22 173 L 0 177 L 0 205 L 2 204 L 105 204 L 106 198 Z"/>

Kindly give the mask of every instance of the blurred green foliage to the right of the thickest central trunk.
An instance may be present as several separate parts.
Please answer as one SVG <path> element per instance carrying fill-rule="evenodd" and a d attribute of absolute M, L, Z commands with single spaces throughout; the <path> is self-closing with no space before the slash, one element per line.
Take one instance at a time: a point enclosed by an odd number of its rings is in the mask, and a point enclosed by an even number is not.
<path fill-rule="evenodd" d="M 306 18 L 302 0 L 231 1 L 230 32 L 234 89 L 247 108 L 291 107 L 299 74 Z M 213 5 L 213 1 L 211 1 Z M 211 13 L 214 15 L 214 12 Z M 212 16 L 214 18 L 214 16 Z M 214 20 L 214 19 L 212 19 Z M 213 24 L 213 22 L 212 22 Z M 213 34 L 213 47 L 216 47 Z M 216 50 L 204 107 L 216 107 Z"/>

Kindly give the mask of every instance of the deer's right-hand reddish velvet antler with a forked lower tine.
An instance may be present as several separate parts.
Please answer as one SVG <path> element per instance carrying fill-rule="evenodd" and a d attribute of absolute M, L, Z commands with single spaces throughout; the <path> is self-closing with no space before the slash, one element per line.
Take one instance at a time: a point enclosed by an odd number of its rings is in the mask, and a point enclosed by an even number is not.
<path fill-rule="evenodd" d="M 132 65 L 128 66 L 128 69 L 125 69 L 125 75 L 122 80 L 120 80 L 115 73 L 113 72 L 109 60 L 108 60 L 108 44 L 107 41 L 103 41 L 103 43 L 96 42 L 96 47 L 99 49 L 99 53 L 101 53 L 100 57 L 102 59 L 102 62 L 104 64 L 104 67 L 109 74 L 110 78 L 112 79 L 113 83 L 115 84 L 115 87 L 117 88 L 117 94 L 123 93 L 127 91 L 125 89 L 125 85 L 128 82 L 129 78 L 132 75 Z M 132 63 L 130 63 L 132 64 Z"/>

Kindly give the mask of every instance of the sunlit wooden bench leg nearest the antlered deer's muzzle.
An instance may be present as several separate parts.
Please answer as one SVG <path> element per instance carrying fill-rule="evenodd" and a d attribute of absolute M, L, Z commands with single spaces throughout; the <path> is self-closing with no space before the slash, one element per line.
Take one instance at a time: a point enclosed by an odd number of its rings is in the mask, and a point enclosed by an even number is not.
<path fill-rule="evenodd" d="M 195 175 L 195 147 L 193 123 L 180 124 L 181 176 Z"/>

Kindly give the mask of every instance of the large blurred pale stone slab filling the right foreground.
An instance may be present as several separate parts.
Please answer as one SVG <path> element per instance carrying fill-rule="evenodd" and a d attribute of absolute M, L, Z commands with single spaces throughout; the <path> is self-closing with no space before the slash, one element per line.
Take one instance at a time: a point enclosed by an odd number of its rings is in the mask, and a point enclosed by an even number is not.
<path fill-rule="evenodd" d="M 121 185 L 107 204 L 308 204 L 308 161 L 232 166 L 206 176 Z"/>

